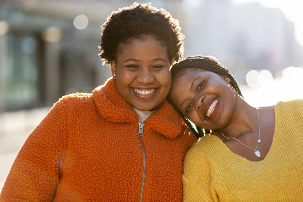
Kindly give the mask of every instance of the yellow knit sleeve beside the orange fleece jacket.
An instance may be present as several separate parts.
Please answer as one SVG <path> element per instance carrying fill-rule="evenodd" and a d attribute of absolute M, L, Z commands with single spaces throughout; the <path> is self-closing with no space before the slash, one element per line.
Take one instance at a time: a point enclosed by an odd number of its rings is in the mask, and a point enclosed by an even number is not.
<path fill-rule="evenodd" d="M 211 168 L 207 156 L 194 145 L 184 159 L 183 201 L 219 201 L 211 183 Z"/>

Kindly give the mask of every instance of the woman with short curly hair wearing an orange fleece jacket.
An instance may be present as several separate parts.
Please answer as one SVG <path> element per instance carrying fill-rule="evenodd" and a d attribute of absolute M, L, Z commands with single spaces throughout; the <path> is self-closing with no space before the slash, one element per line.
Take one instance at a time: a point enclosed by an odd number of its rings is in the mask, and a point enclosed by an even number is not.
<path fill-rule="evenodd" d="M 182 201 L 182 162 L 195 136 L 166 101 L 183 53 L 179 23 L 138 4 L 102 26 L 113 77 L 54 105 L 22 146 L 0 201 Z"/>

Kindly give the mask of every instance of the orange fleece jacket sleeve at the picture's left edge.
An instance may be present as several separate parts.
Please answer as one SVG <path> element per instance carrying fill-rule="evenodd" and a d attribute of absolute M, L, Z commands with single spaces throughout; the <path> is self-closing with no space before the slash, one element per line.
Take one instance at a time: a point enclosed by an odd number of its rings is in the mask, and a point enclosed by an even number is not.
<path fill-rule="evenodd" d="M 31 132 L 19 151 L 0 201 L 53 201 L 67 148 L 64 100 Z"/>

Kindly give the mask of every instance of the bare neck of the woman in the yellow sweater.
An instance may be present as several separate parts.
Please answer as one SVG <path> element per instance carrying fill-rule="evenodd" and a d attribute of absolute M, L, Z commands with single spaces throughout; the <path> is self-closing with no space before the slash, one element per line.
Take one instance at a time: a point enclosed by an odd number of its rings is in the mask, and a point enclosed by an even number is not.
<path fill-rule="evenodd" d="M 256 109 L 246 103 L 242 97 L 237 96 L 235 109 L 229 123 L 218 132 L 223 133 L 228 138 L 238 138 L 247 133 L 258 133 Z"/>

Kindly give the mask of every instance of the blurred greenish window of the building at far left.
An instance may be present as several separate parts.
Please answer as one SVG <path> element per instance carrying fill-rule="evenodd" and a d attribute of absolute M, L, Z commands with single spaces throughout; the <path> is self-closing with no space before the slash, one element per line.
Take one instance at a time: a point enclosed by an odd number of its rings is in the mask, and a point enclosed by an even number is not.
<path fill-rule="evenodd" d="M 37 38 L 34 34 L 11 32 L 7 40 L 6 109 L 34 107 L 38 102 Z"/>

